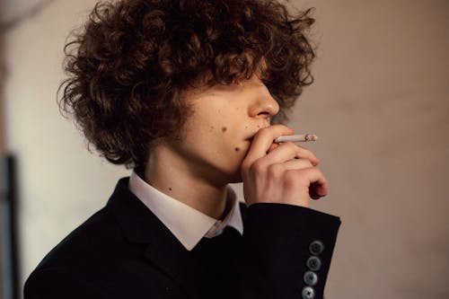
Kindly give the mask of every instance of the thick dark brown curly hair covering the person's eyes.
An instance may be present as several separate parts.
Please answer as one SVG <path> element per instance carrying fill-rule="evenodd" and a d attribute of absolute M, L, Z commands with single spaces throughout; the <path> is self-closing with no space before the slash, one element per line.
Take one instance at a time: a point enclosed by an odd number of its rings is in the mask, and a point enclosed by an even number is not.
<path fill-rule="evenodd" d="M 232 84 L 256 74 L 286 120 L 315 57 L 311 10 L 272 0 L 119 0 L 96 4 L 65 47 L 61 112 L 108 161 L 145 165 L 151 145 L 189 117 L 183 91 L 200 75 Z"/>

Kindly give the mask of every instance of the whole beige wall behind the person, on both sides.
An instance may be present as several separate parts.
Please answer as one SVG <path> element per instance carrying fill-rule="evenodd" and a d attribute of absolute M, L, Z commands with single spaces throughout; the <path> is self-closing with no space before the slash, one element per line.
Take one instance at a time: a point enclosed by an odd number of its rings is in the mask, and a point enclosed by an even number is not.
<path fill-rule="evenodd" d="M 57 112 L 66 33 L 93 0 L 59 0 L 5 36 L 7 147 L 21 174 L 22 277 L 128 171 L 88 154 Z M 319 58 L 292 126 L 314 132 L 343 224 L 328 298 L 448 298 L 449 2 L 316 7 Z M 298 280 L 301 277 L 298 277 Z"/>

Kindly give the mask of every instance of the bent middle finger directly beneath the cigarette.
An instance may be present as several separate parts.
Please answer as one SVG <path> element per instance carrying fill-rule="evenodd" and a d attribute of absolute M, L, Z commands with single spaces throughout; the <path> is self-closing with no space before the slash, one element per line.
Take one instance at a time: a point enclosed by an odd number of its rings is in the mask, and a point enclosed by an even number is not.
<path fill-rule="evenodd" d="M 320 160 L 308 149 L 295 145 L 292 142 L 285 142 L 282 145 L 278 145 L 273 149 L 266 157 L 266 163 L 284 163 L 292 159 L 307 159 L 313 166 L 318 165 Z"/>

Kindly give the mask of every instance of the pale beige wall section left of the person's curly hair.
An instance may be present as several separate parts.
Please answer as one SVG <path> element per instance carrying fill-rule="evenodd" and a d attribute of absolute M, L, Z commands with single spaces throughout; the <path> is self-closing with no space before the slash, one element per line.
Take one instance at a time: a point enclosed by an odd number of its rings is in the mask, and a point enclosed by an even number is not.
<path fill-rule="evenodd" d="M 56 102 L 66 35 L 93 1 L 55 1 L 5 36 L 6 144 L 18 159 L 22 280 L 66 233 L 105 204 L 123 171 L 85 150 Z"/>

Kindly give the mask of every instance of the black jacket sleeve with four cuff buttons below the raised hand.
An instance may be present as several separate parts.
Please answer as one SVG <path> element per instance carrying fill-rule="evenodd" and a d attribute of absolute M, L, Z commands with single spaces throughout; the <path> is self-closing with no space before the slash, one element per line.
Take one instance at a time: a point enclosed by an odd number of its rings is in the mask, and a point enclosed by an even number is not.
<path fill-rule="evenodd" d="M 232 298 L 322 298 L 339 224 L 307 207 L 248 207 Z"/>

